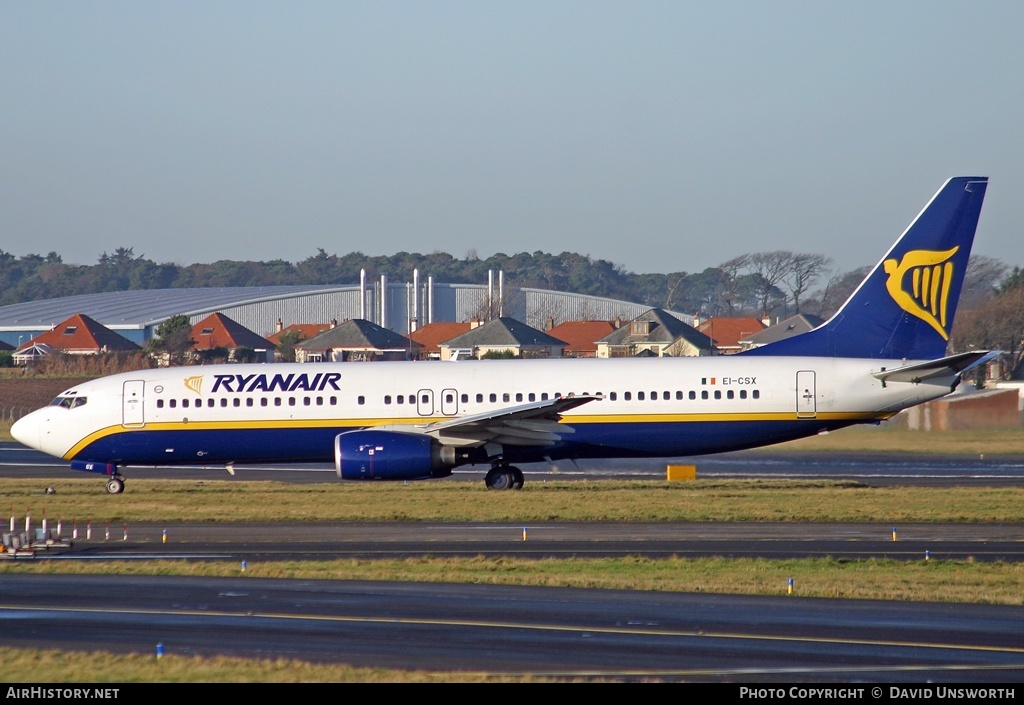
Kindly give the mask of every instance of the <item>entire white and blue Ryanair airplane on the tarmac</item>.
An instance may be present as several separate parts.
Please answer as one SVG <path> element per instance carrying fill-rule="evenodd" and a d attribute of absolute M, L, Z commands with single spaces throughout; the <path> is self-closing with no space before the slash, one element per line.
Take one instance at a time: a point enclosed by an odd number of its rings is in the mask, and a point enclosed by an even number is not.
<path fill-rule="evenodd" d="M 840 310 L 730 356 L 225 364 L 116 374 L 61 392 L 11 428 L 105 475 L 150 465 L 334 462 L 341 480 L 412 481 L 482 465 L 670 458 L 756 448 L 952 392 L 997 354 L 946 355 L 988 178 L 948 179 Z"/>

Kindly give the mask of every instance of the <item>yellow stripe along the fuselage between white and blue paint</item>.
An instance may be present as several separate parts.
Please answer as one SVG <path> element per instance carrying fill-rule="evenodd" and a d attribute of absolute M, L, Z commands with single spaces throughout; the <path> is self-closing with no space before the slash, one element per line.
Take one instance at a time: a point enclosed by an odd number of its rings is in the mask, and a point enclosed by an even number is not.
<path fill-rule="evenodd" d="M 606 415 L 567 415 L 562 417 L 566 425 L 592 423 L 701 423 L 723 421 L 852 421 L 868 422 L 887 419 L 892 414 L 864 412 L 819 413 L 810 419 L 798 419 L 794 412 L 761 413 L 761 414 L 606 414 Z M 63 455 L 65 460 L 71 460 L 90 444 L 100 439 L 117 433 L 134 433 L 153 430 L 251 430 L 258 428 L 366 428 L 383 425 L 417 425 L 444 421 L 452 416 L 415 416 L 409 418 L 361 418 L 361 419 L 265 419 L 252 421 L 173 421 L 146 423 L 144 426 L 125 428 L 121 425 L 106 426 L 89 433 L 72 446 Z M 498 421 L 498 419 L 495 419 Z"/>

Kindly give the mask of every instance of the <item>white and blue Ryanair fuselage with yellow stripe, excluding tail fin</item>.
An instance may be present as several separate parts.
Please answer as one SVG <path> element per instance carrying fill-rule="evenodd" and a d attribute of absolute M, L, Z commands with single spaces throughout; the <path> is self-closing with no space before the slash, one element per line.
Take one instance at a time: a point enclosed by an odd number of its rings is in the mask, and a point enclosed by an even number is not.
<path fill-rule="evenodd" d="M 174 367 L 80 384 L 12 432 L 68 460 L 330 462 L 335 436 L 347 430 L 429 432 L 444 419 L 585 396 L 598 399 L 562 414 L 562 442 L 510 441 L 507 452 L 521 461 L 696 455 L 877 422 L 955 384 L 955 375 L 927 383 L 872 376 L 903 364 L 721 356 Z"/>

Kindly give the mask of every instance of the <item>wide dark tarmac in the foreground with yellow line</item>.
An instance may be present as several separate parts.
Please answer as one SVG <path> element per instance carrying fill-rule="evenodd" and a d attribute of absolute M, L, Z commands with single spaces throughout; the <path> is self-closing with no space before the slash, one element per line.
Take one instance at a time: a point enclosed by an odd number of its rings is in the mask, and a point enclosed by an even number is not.
<path fill-rule="evenodd" d="M 1024 682 L 1020 608 L 245 578 L 7 575 L 0 641 L 434 672 Z M 101 666 L 99 666 L 101 668 Z"/>

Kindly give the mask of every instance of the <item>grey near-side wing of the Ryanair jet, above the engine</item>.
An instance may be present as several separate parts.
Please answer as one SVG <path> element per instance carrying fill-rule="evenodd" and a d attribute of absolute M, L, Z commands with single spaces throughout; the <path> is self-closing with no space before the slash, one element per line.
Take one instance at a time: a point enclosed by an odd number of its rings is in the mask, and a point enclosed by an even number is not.
<path fill-rule="evenodd" d="M 595 399 L 598 398 L 559 397 L 531 402 L 428 423 L 420 428 L 420 432 L 429 433 L 442 443 L 457 445 L 551 446 L 562 436 L 575 432 L 571 426 L 560 423 L 562 412 Z"/>

